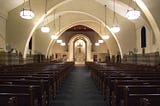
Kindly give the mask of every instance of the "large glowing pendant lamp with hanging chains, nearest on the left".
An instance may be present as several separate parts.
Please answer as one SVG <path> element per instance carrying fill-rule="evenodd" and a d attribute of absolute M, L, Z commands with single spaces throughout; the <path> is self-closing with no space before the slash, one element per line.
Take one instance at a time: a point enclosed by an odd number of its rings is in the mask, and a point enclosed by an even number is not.
<path fill-rule="evenodd" d="M 23 8 L 22 11 L 20 12 L 21 18 L 27 19 L 27 20 L 32 19 L 35 16 L 34 12 L 31 10 L 31 2 L 30 2 L 30 0 L 28 2 L 29 2 L 29 9 Z M 24 5 L 25 5 L 25 0 L 24 0 Z"/>

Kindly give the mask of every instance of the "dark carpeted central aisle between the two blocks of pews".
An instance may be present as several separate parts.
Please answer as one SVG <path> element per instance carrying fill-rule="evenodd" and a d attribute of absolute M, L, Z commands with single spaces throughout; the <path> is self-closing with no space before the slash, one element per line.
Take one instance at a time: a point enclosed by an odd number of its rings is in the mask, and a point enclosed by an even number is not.
<path fill-rule="evenodd" d="M 106 103 L 92 81 L 90 71 L 85 66 L 75 66 L 52 105 L 106 106 Z"/>

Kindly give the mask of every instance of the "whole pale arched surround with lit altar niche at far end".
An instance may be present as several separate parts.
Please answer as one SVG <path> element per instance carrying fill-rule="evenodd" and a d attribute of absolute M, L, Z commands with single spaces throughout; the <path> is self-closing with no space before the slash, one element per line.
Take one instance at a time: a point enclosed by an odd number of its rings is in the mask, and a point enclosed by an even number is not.
<path fill-rule="evenodd" d="M 74 61 L 75 64 L 84 64 L 85 61 L 93 61 L 91 58 L 92 43 L 90 39 L 83 34 L 74 35 L 69 43 L 68 61 Z"/>

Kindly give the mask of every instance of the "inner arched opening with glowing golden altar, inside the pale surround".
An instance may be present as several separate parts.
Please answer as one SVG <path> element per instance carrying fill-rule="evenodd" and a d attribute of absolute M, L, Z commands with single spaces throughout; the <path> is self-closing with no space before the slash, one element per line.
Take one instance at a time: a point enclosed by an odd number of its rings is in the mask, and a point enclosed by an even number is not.
<path fill-rule="evenodd" d="M 73 54 L 75 64 L 84 64 L 86 61 L 86 42 L 83 38 L 78 38 L 74 42 Z"/>

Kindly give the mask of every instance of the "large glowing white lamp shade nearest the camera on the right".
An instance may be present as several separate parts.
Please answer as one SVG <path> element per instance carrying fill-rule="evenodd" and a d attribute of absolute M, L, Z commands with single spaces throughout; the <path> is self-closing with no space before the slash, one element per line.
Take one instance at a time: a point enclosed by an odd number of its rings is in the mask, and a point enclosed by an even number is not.
<path fill-rule="evenodd" d="M 136 20 L 140 17 L 140 15 L 141 15 L 141 13 L 138 10 L 128 10 L 127 14 L 126 14 L 126 17 L 129 20 Z"/>

